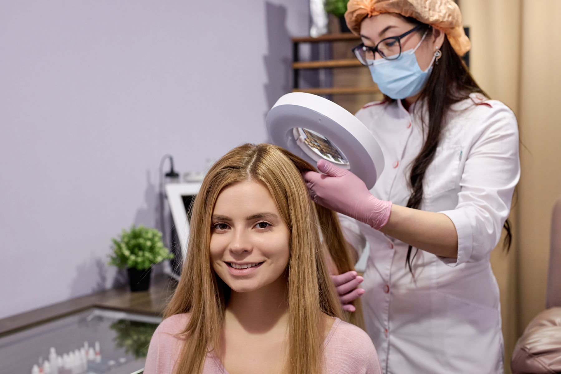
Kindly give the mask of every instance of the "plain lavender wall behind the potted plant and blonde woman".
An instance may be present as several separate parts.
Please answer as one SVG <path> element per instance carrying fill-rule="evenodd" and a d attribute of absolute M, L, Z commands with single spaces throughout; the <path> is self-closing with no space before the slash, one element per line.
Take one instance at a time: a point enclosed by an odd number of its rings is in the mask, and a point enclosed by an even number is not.
<path fill-rule="evenodd" d="M 0 2 L 0 318 L 111 287 L 158 164 L 266 140 L 308 2 Z"/>

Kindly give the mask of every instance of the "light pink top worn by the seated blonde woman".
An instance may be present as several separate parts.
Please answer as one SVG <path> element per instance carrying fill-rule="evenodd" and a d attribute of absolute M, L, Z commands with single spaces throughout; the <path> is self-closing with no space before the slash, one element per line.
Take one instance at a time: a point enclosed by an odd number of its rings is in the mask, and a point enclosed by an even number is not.
<path fill-rule="evenodd" d="M 165 318 L 158 326 L 148 348 L 144 366 L 145 374 L 170 374 L 183 340 L 179 334 L 187 324 L 188 314 Z M 370 337 L 355 325 L 335 318 L 323 343 L 324 374 L 381 374 L 378 354 Z M 228 374 L 220 360 L 206 355 L 203 374 Z"/>

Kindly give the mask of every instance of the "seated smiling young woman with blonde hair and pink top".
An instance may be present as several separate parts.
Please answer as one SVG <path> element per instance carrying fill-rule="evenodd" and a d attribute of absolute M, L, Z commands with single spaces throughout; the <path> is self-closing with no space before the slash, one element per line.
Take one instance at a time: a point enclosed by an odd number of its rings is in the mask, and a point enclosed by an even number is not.
<path fill-rule="evenodd" d="M 269 144 L 210 168 L 146 374 L 380 373 L 369 336 L 340 319 L 325 248 L 336 271 L 352 262 L 335 213 L 309 198 L 312 169 Z"/>

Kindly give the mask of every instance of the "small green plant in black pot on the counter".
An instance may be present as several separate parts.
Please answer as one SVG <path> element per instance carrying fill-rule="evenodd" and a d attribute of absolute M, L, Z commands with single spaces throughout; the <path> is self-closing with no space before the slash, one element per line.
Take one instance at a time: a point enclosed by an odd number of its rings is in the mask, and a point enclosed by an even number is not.
<path fill-rule="evenodd" d="M 130 230 L 122 230 L 121 238 L 111 240 L 113 253 L 108 264 L 127 269 L 131 291 L 150 288 L 152 266 L 173 258 L 173 254 L 164 247 L 162 233 L 157 229 L 132 225 Z"/>

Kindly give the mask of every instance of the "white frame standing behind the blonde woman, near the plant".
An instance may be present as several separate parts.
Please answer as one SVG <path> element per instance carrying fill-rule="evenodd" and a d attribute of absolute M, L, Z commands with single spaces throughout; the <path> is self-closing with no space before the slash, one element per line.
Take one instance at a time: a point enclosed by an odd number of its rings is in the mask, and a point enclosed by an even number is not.
<path fill-rule="evenodd" d="M 183 261 L 187 258 L 187 241 L 189 238 L 189 220 L 183 205 L 183 196 L 195 196 L 199 193 L 202 182 L 168 183 L 165 185 L 165 196 L 168 200 L 169 210 L 172 213 L 173 224 L 180 243 Z M 169 262 L 165 262 L 165 272 L 174 278 L 179 278 L 173 273 Z"/>

